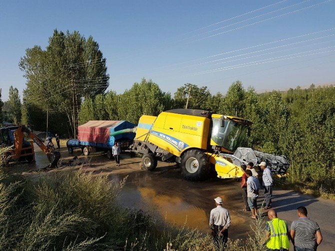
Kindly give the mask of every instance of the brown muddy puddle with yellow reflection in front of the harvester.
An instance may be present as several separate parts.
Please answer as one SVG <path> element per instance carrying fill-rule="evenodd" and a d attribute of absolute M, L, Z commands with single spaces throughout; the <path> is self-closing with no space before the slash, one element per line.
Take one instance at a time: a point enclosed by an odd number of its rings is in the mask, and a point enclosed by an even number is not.
<path fill-rule="evenodd" d="M 236 210 L 234 204 L 228 202 L 230 194 L 223 191 L 231 193 L 231 185 L 235 183 L 224 186 L 217 182 L 220 180 L 190 182 L 181 179 L 176 169 L 161 169 L 163 171 L 157 167 L 153 172 L 129 173 L 120 194 L 120 204 L 140 209 L 161 224 L 185 225 L 208 232 L 210 210 L 215 207 L 213 198 L 221 196 L 224 207 L 230 211 L 231 230 L 238 232 L 236 237 L 245 234 L 245 217 L 238 212 L 239 208 Z M 111 176 L 114 180 L 122 178 L 122 175 Z"/>

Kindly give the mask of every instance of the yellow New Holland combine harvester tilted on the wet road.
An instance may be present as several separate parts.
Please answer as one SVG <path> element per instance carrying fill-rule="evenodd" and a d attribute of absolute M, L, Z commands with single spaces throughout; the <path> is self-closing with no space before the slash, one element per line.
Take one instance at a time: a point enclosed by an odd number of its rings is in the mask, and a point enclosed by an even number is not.
<path fill-rule="evenodd" d="M 196 109 L 142 115 L 131 150 L 143 154 L 141 165 L 147 170 L 156 167 L 157 159 L 179 163 L 187 180 L 207 178 L 211 167 L 218 177 L 240 177 L 243 173 L 239 164 L 259 161 L 256 156 L 242 158 L 243 149 L 250 148 L 241 148 L 239 157 L 232 154 L 247 135 L 249 125 L 246 119 Z"/>

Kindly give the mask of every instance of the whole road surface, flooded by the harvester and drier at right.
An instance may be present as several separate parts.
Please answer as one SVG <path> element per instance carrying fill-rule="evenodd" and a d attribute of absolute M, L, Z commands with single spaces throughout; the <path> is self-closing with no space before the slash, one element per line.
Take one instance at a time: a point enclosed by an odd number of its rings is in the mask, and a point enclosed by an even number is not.
<path fill-rule="evenodd" d="M 46 155 L 35 148 L 36 163 L 23 168 L 38 169 L 45 167 L 48 162 Z M 158 166 L 153 171 L 139 169 L 138 157 L 121 155 L 120 166 L 108 160 L 104 154 L 91 153 L 89 156 L 81 155 L 80 149 L 68 153 L 66 148 L 61 148 L 61 158 L 68 160 L 73 156 L 84 162 L 90 162 L 87 171 L 96 175 L 106 174 L 110 180 L 119 181 L 127 176 L 127 181 L 121 191 L 119 203 L 129 208 L 140 209 L 145 214 L 152 216 L 158 224 L 174 224 L 176 226 L 189 226 L 198 228 L 202 232 L 209 231 L 209 213 L 215 207 L 214 198 L 222 197 L 223 207 L 227 208 L 231 216 L 229 237 L 246 238 L 250 231 L 252 220 L 247 212 L 243 212 L 239 182 L 233 179 L 218 179 L 216 177 L 205 181 L 191 182 L 181 178 L 178 168 L 171 163 L 158 161 Z M 21 168 L 21 167 L 20 167 Z M 59 171 L 77 169 L 66 167 Z M 27 170 L 27 169 L 25 169 Z M 57 170 L 52 170 L 57 171 Z M 49 171 L 49 172 L 52 172 Z M 324 200 L 309 195 L 302 195 L 293 191 L 274 189 L 273 205 L 278 212 L 278 217 L 290 223 L 296 219 L 297 206 L 303 205 L 308 209 L 308 216 L 317 221 L 323 233 L 323 242 L 317 250 L 335 250 L 335 227 L 323 215 L 329 215 L 332 220 L 335 202 Z M 258 205 L 263 200 L 260 191 Z"/>

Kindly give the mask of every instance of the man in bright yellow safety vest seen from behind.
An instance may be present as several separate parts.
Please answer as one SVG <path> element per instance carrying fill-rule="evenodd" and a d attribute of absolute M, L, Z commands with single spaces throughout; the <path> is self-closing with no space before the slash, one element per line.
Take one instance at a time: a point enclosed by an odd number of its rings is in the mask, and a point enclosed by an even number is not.
<path fill-rule="evenodd" d="M 275 210 L 267 212 L 270 221 L 266 223 L 267 251 L 283 251 L 289 249 L 288 225 L 285 220 L 277 218 Z"/>

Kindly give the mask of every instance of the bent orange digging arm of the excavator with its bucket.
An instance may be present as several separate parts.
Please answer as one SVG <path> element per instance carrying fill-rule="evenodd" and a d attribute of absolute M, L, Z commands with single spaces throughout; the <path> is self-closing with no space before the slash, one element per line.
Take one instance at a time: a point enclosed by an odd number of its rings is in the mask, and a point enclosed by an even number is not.
<path fill-rule="evenodd" d="M 24 132 L 38 145 L 38 147 L 46 154 L 50 165 L 50 168 L 56 167 L 58 160 L 60 158 L 60 153 L 58 151 L 53 151 L 50 147 L 44 144 L 43 140 L 36 136 L 29 128 L 25 125 L 21 124 L 18 128 L 14 131 L 14 156 L 16 158 L 19 157 L 19 154 L 22 149 L 22 143 L 24 138 Z"/>

